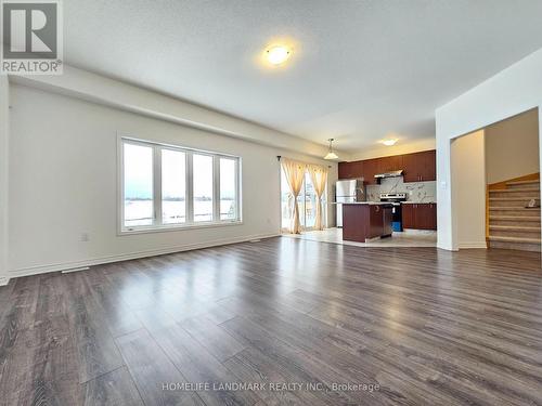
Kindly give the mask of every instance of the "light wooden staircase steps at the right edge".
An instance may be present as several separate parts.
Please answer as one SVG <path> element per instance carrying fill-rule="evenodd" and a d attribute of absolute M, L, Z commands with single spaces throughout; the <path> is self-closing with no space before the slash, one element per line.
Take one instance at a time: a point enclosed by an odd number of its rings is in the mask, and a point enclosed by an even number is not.
<path fill-rule="evenodd" d="M 530 199 L 540 205 L 540 180 L 506 182 L 506 188 L 489 191 L 489 247 L 541 251 L 540 207 L 527 209 Z"/>

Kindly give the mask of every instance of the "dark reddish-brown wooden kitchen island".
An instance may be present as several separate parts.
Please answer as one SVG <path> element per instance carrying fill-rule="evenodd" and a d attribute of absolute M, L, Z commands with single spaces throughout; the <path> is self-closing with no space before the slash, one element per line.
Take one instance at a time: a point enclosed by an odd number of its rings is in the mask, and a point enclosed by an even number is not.
<path fill-rule="evenodd" d="M 390 237 L 392 208 L 386 202 L 343 204 L 343 239 L 365 243 L 372 238 Z"/>

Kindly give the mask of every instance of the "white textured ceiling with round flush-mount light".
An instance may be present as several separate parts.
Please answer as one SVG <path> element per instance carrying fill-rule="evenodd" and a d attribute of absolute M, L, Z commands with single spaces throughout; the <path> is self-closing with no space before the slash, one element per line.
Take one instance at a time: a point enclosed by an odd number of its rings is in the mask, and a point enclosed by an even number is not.
<path fill-rule="evenodd" d="M 434 136 L 436 107 L 542 48 L 540 0 L 63 3 L 67 64 L 352 152 Z"/>

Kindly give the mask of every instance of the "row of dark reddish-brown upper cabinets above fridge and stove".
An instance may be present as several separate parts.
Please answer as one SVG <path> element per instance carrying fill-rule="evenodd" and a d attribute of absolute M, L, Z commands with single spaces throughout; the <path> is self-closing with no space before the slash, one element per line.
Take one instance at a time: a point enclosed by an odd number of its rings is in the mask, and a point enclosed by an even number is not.
<path fill-rule="evenodd" d="M 365 184 L 376 184 L 377 173 L 402 169 L 404 182 L 427 182 L 437 180 L 436 152 L 395 155 L 374 159 L 340 162 L 339 179 L 364 178 Z"/>

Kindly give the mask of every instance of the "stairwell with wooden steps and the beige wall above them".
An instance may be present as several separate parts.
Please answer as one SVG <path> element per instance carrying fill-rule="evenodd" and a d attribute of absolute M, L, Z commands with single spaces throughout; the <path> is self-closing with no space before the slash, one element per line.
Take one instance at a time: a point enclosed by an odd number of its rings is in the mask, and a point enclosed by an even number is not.
<path fill-rule="evenodd" d="M 485 129 L 488 248 L 541 251 L 539 112 Z"/>

